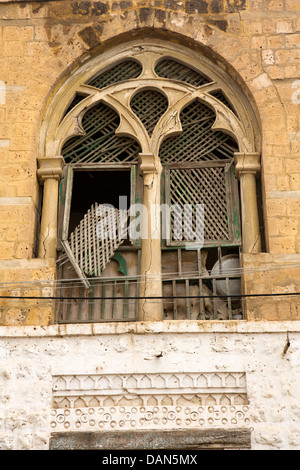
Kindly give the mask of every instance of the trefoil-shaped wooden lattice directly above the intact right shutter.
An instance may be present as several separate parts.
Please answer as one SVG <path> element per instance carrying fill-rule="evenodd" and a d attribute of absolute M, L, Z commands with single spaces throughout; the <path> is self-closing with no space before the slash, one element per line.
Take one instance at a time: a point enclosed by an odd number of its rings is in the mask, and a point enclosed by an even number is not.
<path fill-rule="evenodd" d="M 183 132 L 166 139 L 159 156 L 163 163 L 232 159 L 238 150 L 235 141 L 211 129 L 215 113 L 200 100 L 185 107 L 180 115 Z"/>

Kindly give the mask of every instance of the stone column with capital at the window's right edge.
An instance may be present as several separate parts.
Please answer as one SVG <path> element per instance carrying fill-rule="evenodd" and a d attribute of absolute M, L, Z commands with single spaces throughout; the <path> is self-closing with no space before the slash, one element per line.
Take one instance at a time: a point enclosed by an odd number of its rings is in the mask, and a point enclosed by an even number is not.
<path fill-rule="evenodd" d="M 256 195 L 256 176 L 260 173 L 259 153 L 235 153 L 236 175 L 241 186 L 243 252 L 261 252 L 261 236 Z"/>

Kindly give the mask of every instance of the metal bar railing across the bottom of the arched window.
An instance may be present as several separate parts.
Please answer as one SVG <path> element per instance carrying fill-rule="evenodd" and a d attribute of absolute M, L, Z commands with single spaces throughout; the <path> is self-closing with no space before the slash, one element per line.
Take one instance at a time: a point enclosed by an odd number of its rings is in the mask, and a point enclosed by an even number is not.
<path fill-rule="evenodd" d="M 221 249 L 215 249 L 213 254 L 217 254 L 217 261 L 212 270 L 207 270 L 198 250 L 195 252 L 197 263 L 193 265 L 197 265 L 198 272 L 188 272 L 182 252 L 174 250 L 178 261 L 177 267 L 173 265 L 174 272 L 162 273 L 164 319 L 242 319 L 238 255 L 223 256 Z M 139 276 L 97 278 L 90 280 L 90 284 L 90 290 L 78 281 L 68 282 L 61 288 L 62 300 L 57 305 L 59 323 L 138 320 Z M 147 300 L 157 302 L 157 299 Z"/>

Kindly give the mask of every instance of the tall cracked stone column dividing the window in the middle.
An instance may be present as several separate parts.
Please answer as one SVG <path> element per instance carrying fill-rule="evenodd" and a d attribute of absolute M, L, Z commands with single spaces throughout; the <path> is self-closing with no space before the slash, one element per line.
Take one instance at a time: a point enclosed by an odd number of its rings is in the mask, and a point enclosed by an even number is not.
<path fill-rule="evenodd" d="M 144 180 L 140 297 L 161 297 L 161 229 L 159 210 L 161 163 L 158 157 L 145 153 L 139 155 L 139 163 Z M 160 321 L 162 319 L 162 300 L 140 299 L 140 321 Z"/>

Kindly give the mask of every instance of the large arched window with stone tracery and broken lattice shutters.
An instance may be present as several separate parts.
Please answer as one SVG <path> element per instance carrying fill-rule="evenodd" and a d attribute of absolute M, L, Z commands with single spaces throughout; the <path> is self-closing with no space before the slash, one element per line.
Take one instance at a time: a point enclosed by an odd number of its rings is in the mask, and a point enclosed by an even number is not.
<path fill-rule="evenodd" d="M 243 217 L 254 119 L 223 70 L 164 46 L 94 60 L 45 131 L 63 163 L 63 294 L 86 298 L 62 301 L 58 321 L 243 318 L 239 254 L 259 250 L 257 207 Z"/>

